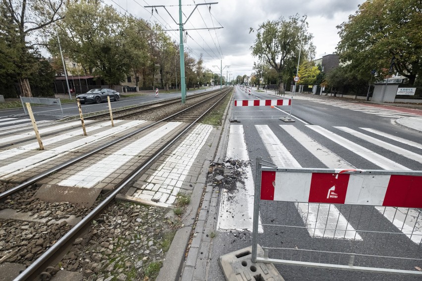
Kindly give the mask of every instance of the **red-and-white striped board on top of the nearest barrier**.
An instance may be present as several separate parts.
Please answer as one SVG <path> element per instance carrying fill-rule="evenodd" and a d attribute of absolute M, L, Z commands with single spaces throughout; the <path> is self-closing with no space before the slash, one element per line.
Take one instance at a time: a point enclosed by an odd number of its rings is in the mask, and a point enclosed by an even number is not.
<path fill-rule="evenodd" d="M 261 200 L 422 208 L 421 173 L 362 172 L 262 171 Z"/>

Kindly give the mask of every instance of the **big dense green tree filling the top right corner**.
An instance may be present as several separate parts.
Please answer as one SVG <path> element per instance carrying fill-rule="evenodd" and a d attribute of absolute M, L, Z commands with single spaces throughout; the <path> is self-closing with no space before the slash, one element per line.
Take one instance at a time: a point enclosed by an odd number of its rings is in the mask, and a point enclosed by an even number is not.
<path fill-rule="evenodd" d="M 422 75 L 421 0 L 368 0 L 347 22 L 337 26 L 337 52 L 342 62 L 350 61 L 356 75 L 369 80 L 376 69 L 388 73 L 391 58 L 394 71 L 415 84 Z"/>

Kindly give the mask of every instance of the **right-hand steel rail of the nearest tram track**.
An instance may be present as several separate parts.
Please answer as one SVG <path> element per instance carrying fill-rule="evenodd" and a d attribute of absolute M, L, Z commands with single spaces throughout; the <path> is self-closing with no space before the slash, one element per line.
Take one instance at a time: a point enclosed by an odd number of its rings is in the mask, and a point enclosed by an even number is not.
<path fill-rule="evenodd" d="M 224 93 L 226 92 L 226 93 Z M 36 280 L 38 274 L 40 274 L 40 268 L 45 266 L 45 263 L 48 262 L 61 247 L 63 247 L 72 237 L 79 233 L 87 224 L 91 223 L 94 218 L 100 214 L 104 208 L 115 198 L 115 196 L 128 184 L 130 184 L 136 176 L 138 176 L 142 171 L 144 171 L 153 161 L 156 160 L 163 152 L 165 152 L 171 145 L 173 145 L 180 137 L 182 137 L 189 129 L 192 128 L 202 117 L 204 117 L 211 109 L 213 109 L 228 93 L 230 90 L 223 90 L 221 94 L 224 94 L 223 97 L 219 98 L 207 111 L 205 111 L 200 117 L 198 117 L 191 124 L 186 126 L 186 128 L 181 131 L 177 136 L 172 140 L 168 141 L 164 146 L 162 146 L 158 151 L 156 151 L 151 157 L 141 164 L 135 171 L 130 173 L 120 184 L 118 184 L 114 190 L 107 196 L 104 201 L 102 201 L 97 207 L 95 207 L 87 216 L 85 216 L 78 224 L 76 224 L 68 233 L 63 235 L 58 239 L 48 250 L 46 250 L 36 261 L 29 265 L 14 281 L 26 281 L 26 280 Z M 208 100 L 208 99 L 207 99 Z M 202 102 L 201 102 L 202 103 Z M 191 106 L 192 107 L 192 106 Z M 186 110 L 186 109 L 185 109 Z M 179 114 L 179 113 L 177 113 Z"/>

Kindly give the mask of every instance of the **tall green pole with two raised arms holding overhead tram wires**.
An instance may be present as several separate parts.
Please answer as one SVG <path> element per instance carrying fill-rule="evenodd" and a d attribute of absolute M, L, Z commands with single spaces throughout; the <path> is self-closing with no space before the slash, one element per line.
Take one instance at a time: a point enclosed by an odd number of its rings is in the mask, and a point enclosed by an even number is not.
<path fill-rule="evenodd" d="M 189 18 L 192 16 L 193 12 L 201 5 L 211 5 L 211 4 L 218 4 L 218 2 L 212 3 L 201 3 L 196 4 L 195 8 L 192 10 L 190 15 L 187 17 L 186 21 L 182 21 L 182 0 L 179 0 L 179 23 L 173 18 L 173 16 L 168 12 L 167 8 L 164 5 L 152 5 L 152 6 L 144 6 L 144 8 L 155 8 L 157 10 L 158 7 L 163 7 L 164 10 L 168 13 L 171 19 L 179 25 L 179 37 L 180 37 L 180 89 L 182 94 L 182 104 L 186 103 L 186 79 L 185 79 L 185 51 L 183 47 L 183 25 L 185 25 Z"/>

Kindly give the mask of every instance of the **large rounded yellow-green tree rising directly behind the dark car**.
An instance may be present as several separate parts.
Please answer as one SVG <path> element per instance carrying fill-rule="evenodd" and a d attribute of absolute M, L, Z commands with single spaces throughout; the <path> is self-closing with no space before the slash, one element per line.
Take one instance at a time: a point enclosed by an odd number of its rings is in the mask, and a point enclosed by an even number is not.
<path fill-rule="evenodd" d="M 131 18 L 100 1 L 80 0 L 68 6 L 68 16 L 59 25 L 63 52 L 114 88 L 130 72 L 133 54 L 126 34 Z M 57 51 L 54 37 L 50 43 Z"/>

